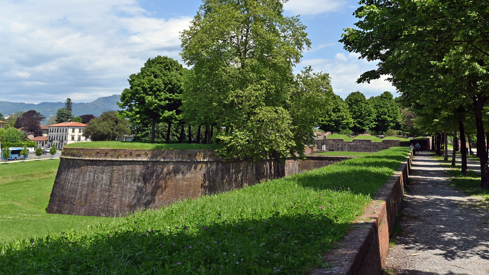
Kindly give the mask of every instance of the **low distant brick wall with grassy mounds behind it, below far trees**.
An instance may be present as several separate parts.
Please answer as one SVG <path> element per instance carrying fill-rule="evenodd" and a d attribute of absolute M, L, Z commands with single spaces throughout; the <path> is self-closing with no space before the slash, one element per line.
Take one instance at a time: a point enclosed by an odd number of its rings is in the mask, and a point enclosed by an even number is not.
<path fill-rule="evenodd" d="M 391 147 L 402 146 L 399 139 L 383 139 L 381 142 L 372 142 L 371 139 L 344 141 L 343 138 L 323 138 L 315 140 L 315 145 L 318 150 L 344 152 L 378 152 Z"/>

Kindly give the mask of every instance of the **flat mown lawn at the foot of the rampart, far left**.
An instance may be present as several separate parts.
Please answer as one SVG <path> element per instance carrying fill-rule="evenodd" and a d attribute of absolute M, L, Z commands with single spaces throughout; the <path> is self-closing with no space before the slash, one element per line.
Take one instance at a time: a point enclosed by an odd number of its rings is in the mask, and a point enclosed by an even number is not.
<path fill-rule="evenodd" d="M 34 160 L 0 165 L 0 243 L 113 220 L 46 213 L 59 162 Z"/>

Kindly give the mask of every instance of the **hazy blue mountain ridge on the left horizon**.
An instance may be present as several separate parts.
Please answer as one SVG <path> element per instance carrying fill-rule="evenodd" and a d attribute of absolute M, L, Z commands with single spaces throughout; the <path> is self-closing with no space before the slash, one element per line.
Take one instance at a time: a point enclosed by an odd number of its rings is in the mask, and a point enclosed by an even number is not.
<path fill-rule="evenodd" d="M 73 115 L 95 115 L 99 116 L 103 112 L 118 110 L 119 106 L 115 104 L 120 99 L 120 94 L 99 97 L 90 103 L 73 103 Z M 27 112 L 36 110 L 45 117 L 56 115 L 59 108 L 65 107 L 64 102 L 41 102 L 39 104 L 0 101 L 0 113 L 2 115 L 13 114 L 18 111 Z"/>

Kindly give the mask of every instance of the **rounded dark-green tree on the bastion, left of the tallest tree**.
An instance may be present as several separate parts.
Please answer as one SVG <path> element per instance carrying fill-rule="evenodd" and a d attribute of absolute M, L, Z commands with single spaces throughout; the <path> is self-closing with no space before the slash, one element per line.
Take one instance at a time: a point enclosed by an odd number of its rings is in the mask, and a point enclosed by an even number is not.
<path fill-rule="evenodd" d="M 124 89 L 117 105 L 126 109 L 120 114 L 133 123 L 151 123 L 151 143 L 155 143 L 157 123 L 166 122 L 171 128 L 178 120 L 184 71 L 178 61 L 158 55 L 148 59 L 139 73 L 129 76 L 129 89 Z"/>

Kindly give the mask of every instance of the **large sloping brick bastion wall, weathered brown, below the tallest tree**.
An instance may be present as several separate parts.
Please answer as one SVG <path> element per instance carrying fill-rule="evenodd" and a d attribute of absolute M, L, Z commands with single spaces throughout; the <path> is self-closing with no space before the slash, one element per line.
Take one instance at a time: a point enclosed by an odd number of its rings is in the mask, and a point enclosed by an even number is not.
<path fill-rule="evenodd" d="M 348 159 L 221 160 L 211 150 L 64 148 L 48 213 L 119 216 Z"/>

